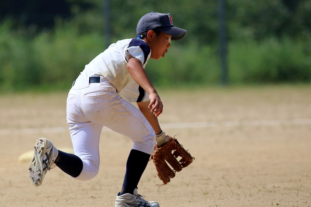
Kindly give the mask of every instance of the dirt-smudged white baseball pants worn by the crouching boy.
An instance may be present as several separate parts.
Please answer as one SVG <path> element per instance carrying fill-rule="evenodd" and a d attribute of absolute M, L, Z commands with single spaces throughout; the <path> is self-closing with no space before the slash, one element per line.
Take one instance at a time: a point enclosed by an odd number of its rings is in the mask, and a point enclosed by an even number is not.
<path fill-rule="evenodd" d="M 77 78 L 67 97 L 67 124 L 74 154 L 83 162 L 77 180 L 90 180 L 98 173 L 103 126 L 129 137 L 132 149 L 147 154 L 154 150 L 156 134 L 150 123 L 102 76 L 100 83 L 89 83 L 89 77 Z"/>

